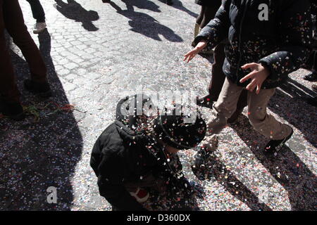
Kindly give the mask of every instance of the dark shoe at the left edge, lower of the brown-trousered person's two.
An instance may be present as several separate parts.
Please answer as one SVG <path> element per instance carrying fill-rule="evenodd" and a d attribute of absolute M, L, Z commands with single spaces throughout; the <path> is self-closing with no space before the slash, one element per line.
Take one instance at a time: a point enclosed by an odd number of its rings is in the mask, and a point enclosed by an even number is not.
<path fill-rule="evenodd" d="M 0 100 L 0 113 L 16 121 L 23 120 L 25 118 L 25 114 L 20 103 L 8 103 Z"/>

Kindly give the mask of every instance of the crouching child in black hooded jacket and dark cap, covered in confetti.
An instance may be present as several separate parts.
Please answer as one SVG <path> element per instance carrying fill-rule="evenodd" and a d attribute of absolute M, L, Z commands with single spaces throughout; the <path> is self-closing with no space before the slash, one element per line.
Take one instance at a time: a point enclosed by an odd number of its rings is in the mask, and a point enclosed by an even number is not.
<path fill-rule="evenodd" d="M 199 114 L 185 123 L 190 115 L 175 109 L 172 115 L 152 117 L 144 113 L 144 105 L 153 103 L 142 95 L 121 100 L 116 122 L 104 130 L 92 150 L 90 165 L 98 177 L 99 193 L 113 210 L 145 210 L 141 203 L 149 198 L 146 188 L 161 194 L 191 190 L 177 152 L 197 146 L 206 134 L 206 123 Z"/>

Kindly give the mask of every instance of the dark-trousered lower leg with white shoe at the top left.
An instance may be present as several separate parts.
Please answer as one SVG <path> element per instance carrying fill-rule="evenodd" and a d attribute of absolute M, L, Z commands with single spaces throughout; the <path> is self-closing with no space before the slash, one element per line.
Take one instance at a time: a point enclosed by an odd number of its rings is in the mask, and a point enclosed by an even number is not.
<path fill-rule="evenodd" d="M 45 13 L 44 9 L 39 2 L 39 0 L 26 0 L 29 2 L 32 10 L 32 15 L 37 22 L 34 25 L 33 33 L 39 34 L 46 28 L 46 22 L 45 22 Z"/>

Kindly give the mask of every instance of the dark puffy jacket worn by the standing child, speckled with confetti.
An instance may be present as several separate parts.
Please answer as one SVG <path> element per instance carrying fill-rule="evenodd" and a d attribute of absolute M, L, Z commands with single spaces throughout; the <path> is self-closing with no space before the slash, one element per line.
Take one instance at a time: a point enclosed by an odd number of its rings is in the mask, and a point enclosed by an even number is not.
<path fill-rule="evenodd" d="M 263 5 L 268 6 L 268 20 L 260 20 Z M 260 9 L 259 9 L 260 8 Z M 262 17 L 261 17 L 262 18 Z M 194 39 L 208 40 L 214 47 L 228 38 L 223 72 L 232 82 L 250 71 L 247 63 L 262 63 L 271 75 L 262 89 L 271 89 L 285 82 L 287 75 L 299 69 L 311 53 L 311 13 L 309 0 L 224 0 L 216 18 Z"/>

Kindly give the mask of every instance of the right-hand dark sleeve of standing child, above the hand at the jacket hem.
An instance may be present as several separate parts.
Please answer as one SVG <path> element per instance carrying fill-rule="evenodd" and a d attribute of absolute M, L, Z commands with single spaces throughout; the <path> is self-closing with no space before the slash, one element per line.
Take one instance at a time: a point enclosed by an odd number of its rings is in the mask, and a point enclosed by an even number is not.
<path fill-rule="evenodd" d="M 280 51 L 259 60 L 271 70 L 267 80 L 281 81 L 298 70 L 311 53 L 312 27 L 309 0 L 283 1 L 278 15 Z"/>

